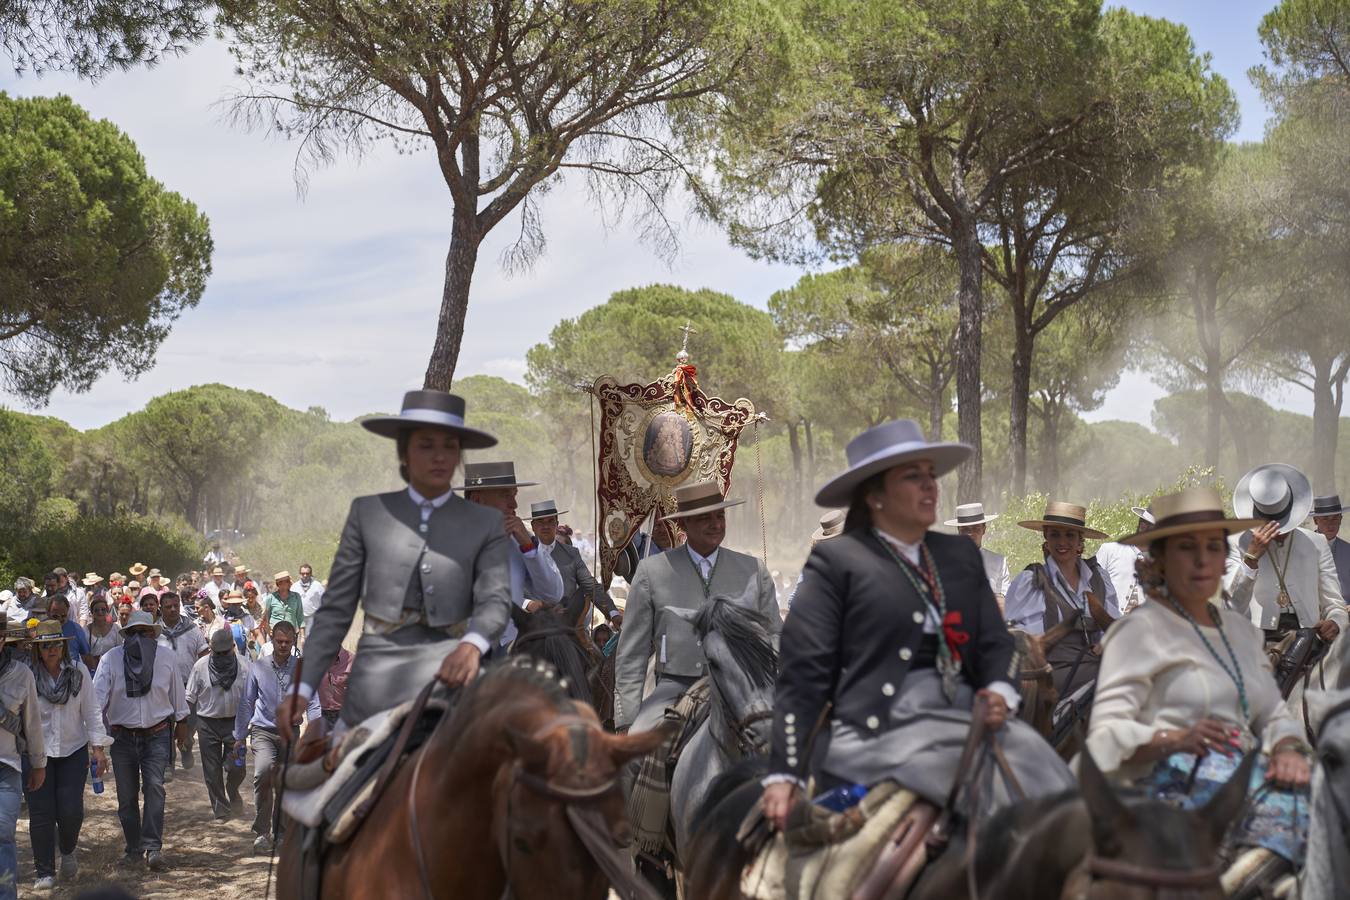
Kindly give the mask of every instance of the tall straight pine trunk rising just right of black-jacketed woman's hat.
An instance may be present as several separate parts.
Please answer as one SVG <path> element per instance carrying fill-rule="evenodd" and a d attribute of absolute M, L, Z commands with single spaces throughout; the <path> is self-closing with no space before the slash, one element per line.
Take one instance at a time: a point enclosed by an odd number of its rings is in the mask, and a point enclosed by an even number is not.
<path fill-rule="evenodd" d="M 975 220 L 968 219 L 953 228 L 953 250 L 960 271 L 957 286 L 956 325 L 956 430 L 961 443 L 975 452 L 961 463 L 957 475 L 956 502 L 979 501 L 984 476 L 983 437 L 980 433 L 980 339 L 984 324 L 980 236 Z"/>

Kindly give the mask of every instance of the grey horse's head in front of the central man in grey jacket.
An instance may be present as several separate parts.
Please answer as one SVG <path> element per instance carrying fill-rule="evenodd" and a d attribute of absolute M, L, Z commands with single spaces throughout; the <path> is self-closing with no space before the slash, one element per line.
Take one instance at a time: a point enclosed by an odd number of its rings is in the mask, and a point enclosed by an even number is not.
<path fill-rule="evenodd" d="M 694 630 L 722 712 L 720 727 L 729 729 L 736 741 L 736 748 L 726 749 L 740 756 L 765 753 L 778 681 L 778 650 L 768 623 L 747 602 L 714 596 L 694 619 Z"/>

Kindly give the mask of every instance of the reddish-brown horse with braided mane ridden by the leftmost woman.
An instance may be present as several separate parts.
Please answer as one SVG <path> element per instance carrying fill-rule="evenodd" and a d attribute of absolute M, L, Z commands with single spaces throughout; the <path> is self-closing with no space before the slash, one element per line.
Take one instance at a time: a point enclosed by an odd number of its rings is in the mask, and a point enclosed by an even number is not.
<path fill-rule="evenodd" d="M 612 881 L 624 880 L 630 838 L 618 772 L 666 735 L 605 733 L 560 681 L 524 657 L 490 667 L 390 780 L 356 834 L 327 850 L 315 896 L 602 900 Z M 309 893 L 301 839 L 289 823 L 279 900 Z"/>

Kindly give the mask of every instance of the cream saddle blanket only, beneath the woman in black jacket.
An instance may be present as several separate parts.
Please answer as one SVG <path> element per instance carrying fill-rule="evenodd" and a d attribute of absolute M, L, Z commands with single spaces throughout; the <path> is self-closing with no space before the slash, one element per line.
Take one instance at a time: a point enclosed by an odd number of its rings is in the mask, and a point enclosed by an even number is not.
<path fill-rule="evenodd" d="M 882 781 L 855 807 L 867 810 L 857 830 L 846 826 L 815 827 L 815 839 L 805 842 L 792 839 L 791 827 L 787 837 L 783 833 L 775 834 L 741 870 L 741 893 L 749 900 L 852 896 L 876 865 L 887 838 L 917 799 L 917 795 L 894 781 Z M 849 812 L 838 816 L 846 818 Z M 845 837 L 818 843 L 822 833 L 840 833 Z"/>

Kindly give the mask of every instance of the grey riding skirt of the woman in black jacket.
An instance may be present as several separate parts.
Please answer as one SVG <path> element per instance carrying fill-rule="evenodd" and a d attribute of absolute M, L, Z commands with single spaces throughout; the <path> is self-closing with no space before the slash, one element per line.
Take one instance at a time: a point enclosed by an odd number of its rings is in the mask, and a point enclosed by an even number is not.
<path fill-rule="evenodd" d="M 873 735 L 837 719 L 830 723 L 830 746 L 822 768 L 855 784 L 872 785 L 894 779 L 941 806 L 952 789 L 971 730 L 973 699 L 975 691 L 963 683 L 954 700 L 948 703 L 936 669 L 911 669 L 896 691 L 886 731 Z M 1026 722 L 1010 715 L 995 739 L 1029 797 L 1076 784 L 1064 760 Z M 986 760 L 979 772 L 980 818 L 1018 799 L 992 760 Z M 969 814 L 969 810 L 963 812 Z"/>

